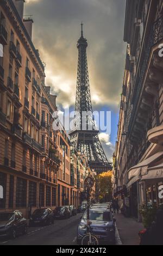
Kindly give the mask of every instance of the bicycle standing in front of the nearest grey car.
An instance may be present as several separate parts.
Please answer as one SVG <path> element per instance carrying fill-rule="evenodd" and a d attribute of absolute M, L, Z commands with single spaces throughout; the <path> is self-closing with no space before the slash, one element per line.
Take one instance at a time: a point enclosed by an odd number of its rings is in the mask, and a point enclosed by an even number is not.
<path fill-rule="evenodd" d="M 87 234 L 83 236 L 82 245 L 98 245 L 98 239 L 92 234 L 91 222 L 87 223 L 85 227 L 87 228 Z"/>

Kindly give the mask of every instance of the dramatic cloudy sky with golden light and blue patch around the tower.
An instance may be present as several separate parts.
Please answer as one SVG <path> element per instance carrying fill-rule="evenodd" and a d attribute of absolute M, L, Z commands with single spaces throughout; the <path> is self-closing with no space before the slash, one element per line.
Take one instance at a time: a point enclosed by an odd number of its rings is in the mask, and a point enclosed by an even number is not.
<path fill-rule="evenodd" d="M 99 135 L 109 160 L 117 136 L 126 53 L 125 4 L 126 0 L 26 0 L 25 5 L 25 14 L 33 15 L 35 47 L 46 63 L 46 84 L 58 96 L 61 110 L 74 107 L 76 44 L 83 21 L 93 110 L 111 111 L 111 134 Z"/>

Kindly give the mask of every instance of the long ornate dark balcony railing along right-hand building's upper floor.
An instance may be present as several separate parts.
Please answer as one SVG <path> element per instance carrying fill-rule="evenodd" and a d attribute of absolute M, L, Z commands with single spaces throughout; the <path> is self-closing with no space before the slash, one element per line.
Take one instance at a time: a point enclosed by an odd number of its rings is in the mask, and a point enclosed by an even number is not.
<path fill-rule="evenodd" d="M 154 22 L 154 24 L 151 28 L 151 32 L 149 33 L 148 41 L 147 41 L 147 45 L 146 45 L 145 56 L 143 57 L 143 61 L 141 62 L 140 66 L 139 66 L 140 74 L 138 74 L 139 77 L 135 77 L 136 82 L 135 82 L 134 93 L 133 93 L 133 110 L 131 112 L 131 117 L 130 117 L 129 126 L 128 126 L 128 132 L 131 131 L 131 127 L 133 126 L 133 123 L 134 123 L 137 102 L 139 100 L 142 83 L 144 80 L 144 76 L 145 76 L 145 72 L 146 72 L 146 68 L 147 68 L 147 64 L 148 64 L 149 54 L 151 53 L 151 48 L 155 44 L 158 44 L 158 42 L 162 38 L 163 38 L 163 17 L 160 17 L 156 22 Z"/>

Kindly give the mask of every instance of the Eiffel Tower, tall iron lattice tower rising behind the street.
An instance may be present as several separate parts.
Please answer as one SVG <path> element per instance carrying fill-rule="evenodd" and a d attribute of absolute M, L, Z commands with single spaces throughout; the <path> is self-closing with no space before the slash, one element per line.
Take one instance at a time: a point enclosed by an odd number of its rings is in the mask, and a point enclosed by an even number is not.
<path fill-rule="evenodd" d="M 92 103 L 87 68 L 86 48 L 87 40 L 83 36 L 83 23 L 80 39 L 78 40 L 78 74 L 76 105 L 73 119 L 73 129 L 69 133 L 70 141 L 74 148 L 86 155 L 90 168 L 97 174 L 111 170 L 101 142 L 98 138 L 95 120 L 92 114 Z M 83 114 L 87 113 L 87 115 Z M 84 116 L 84 117 L 83 117 Z"/>

